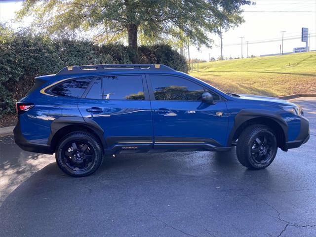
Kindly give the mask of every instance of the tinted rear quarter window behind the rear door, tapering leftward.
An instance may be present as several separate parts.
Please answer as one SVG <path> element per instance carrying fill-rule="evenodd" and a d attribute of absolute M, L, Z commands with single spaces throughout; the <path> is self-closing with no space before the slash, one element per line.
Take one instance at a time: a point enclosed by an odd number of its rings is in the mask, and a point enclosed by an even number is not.
<path fill-rule="evenodd" d="M 51 89 L 51 92 L 61 96 L 81 97 L 91 79 L 67 80 Z"/>

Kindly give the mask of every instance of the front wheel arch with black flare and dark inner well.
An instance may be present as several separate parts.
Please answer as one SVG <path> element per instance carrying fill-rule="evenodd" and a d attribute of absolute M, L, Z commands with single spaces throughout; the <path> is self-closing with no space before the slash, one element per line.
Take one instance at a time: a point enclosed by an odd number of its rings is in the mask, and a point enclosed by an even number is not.
<path fill-rule="evenodd" d="M 277 146 L 286 151 L 285 144 L 288 141 L 287 123 L 275 112 L 266 110 L 241 110 L 235 117 L 235 123 L 228 138 L 228 146 L 233 144 L 247 126 L 253 124 L 264 124 L 271 127 L 276 133 Z"/>

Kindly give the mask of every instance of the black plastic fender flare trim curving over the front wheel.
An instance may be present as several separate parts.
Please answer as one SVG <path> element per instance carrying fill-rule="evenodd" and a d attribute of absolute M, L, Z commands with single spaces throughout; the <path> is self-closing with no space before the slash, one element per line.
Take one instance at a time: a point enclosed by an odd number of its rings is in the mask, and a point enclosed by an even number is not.
<path fill-rule="evenodd" d="M 237 129 L 243 124 L 244 122 L 253 119 L 253 118 L 269 118 L 274 120 L 280 127 L 282 128 L 282 131 L 284 133 L 285 142 L 288 142 L 288 125 L 286 121 L 277 113 L 270 110 L 260 110 L 260 109 L 244 109 L 240 110 L 239 113 L 235 116 L 234 126 L 229 134 L 227 144 L 228 146 L 231 146 L 233 142 L 234 135 L 237 131 Z"/>

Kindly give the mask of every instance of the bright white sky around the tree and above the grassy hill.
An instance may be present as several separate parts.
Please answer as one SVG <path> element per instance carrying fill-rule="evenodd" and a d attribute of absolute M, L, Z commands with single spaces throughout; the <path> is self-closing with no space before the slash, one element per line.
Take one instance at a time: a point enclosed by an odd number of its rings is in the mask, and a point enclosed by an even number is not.
<path fill-rule="evenodd" d="M 255 5 L 243 6 L 242 16 L 245 22 L 223 32 L 223 56 L 241 57 L 279 53 L 282 41 L 281 31 L 285 31 L 283 52 L 292 52 L 294 47 L 304 47 L 301 42 L 302 27 L 309 28 L 310 50 L 316 49 L 316 0 L 254 0 Z M 22 1 L 0 0 L 0 22 L 10 22 L 14 12 L 22 6 Z M 23 26 L 28 26 L 26 20 Z M 212 48 L 201 47 L 199 50 L 190 45 L 190 58 L 208 61 L 210 57 L 217 58 L 221 54 L 220 38 L 210 35 L 214 40 Z M 293 39 L 294 38 L 294 39 Z M 298 38 L 298 39 L 295 39 Z M 260 42 L 270 41 L 270 42 Z M 272 42 L 271 42 L 272 41 Z M 188 50 L 185 50 L 185 55 Z"/>

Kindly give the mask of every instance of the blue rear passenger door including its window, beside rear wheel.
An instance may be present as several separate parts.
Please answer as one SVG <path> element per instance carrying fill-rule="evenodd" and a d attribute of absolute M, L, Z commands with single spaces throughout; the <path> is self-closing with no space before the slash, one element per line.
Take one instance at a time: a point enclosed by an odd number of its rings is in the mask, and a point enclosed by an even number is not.
<path fill-rule="evenodd" d="M 108 149 L 150 149 L 151 104 L 142 74 L 96 77 L 79 102 L 83 117 L 104 130 Z"/>

